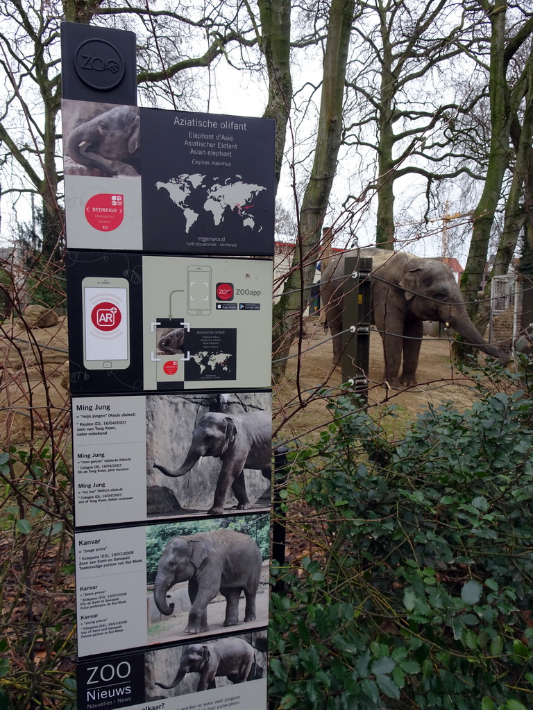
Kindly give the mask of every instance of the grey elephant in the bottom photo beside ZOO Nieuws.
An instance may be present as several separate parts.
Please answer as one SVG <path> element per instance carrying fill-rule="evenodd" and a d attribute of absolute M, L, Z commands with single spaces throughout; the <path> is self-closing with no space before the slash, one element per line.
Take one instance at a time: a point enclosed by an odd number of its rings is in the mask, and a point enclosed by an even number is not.
<path fill-rule="evenodd" d="M 187 673 L 200 673 L 196 691 L 217 687 L 215 677 L 225 676 L 232 683 L 244 683 L 254 665 L 255 652 L 243 638 L 220 638 L 185 646 L 180 667 L 170 685 L 157 683 L 166 690 L 175 688 Z"/>

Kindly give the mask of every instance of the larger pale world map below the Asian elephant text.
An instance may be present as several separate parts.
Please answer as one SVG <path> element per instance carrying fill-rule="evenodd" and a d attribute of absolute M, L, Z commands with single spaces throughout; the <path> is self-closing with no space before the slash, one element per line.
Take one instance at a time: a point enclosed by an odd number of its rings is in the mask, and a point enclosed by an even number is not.
<path fill-rule="evenodd" d="M 266 190 L 263 185 L 243 182 L 241 175 L 227 178 L 206 179 L 206 175 L 195 173 L 178 175 L 168 182 L 156 182 L 158 190 L 166 190 L 172 202 L 181 209 L 185 217 L 185 233 L 198 221 L 200 211 L 210 214 L 215 227 L 225 221 L 227 214 L 237 214 L 242 219 L 242 226 L 250 231 L 262 231 L 254 215 L 253 200 L 259 192 Z"/>

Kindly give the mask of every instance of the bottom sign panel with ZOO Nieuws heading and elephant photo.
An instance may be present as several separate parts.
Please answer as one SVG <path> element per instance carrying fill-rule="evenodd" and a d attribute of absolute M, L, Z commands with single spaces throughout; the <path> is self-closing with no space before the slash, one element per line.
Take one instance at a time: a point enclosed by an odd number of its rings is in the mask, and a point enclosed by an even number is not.
<path fill-rule="evenodd" d="M 266 629 L 77 663 L 79 710 L 266 708 Z"/>

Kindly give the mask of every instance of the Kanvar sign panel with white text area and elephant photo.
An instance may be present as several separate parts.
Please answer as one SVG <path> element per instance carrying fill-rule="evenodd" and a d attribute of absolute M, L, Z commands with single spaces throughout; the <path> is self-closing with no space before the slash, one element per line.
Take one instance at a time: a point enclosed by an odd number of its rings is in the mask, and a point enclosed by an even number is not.
<path fill-rule="evenodd" d="M 186 535 L 190 525 L 185 521 L 77 533 L 78 655 L 198 634 L 210 638 L 224 633 L 226 626 L 246 631 L 252 621 L 253 626 L 266 626 L 268 561 L 263 563 L 262 550 L 250 535 L 225 528 L 225 522 L 210 518 L 198 523 L 195 527 L 205 530 L 193 535 Z M 248 531 L 250 525 L 255 528 L 256 539 L 268 541 L 268 513 L 247 516 L 244 525 Z M 163 544 L 167 537 L 171 545 Z M 198 566 L 185 560 L 191 547 L 201 551 Z M 199 592 L 192 607 L 188 579 L 195 580 Z M 217 596 L 219 589 L 224 599 Z M 239 599 L 241 589 L 244 599 Z M 163 613 L 170 617 L 166 623 L 161 623 Z"/>

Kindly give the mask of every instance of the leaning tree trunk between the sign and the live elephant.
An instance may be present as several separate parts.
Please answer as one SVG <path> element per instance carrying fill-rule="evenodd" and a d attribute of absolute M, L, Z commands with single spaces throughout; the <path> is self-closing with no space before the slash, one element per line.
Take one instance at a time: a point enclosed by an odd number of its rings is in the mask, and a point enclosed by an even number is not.
<path fill-rule="evenodd" d="M 343 126 L 343 96 L 354 0 L 332 0 L 324 56 L 321 111 L 315 158 L 303 196 L 298 244 L 284 293 L 274 307 L 274 378 L 285 374 L 286 357 L 309 300 L 318 260 L 322 224 L 328 209 Z"/>

